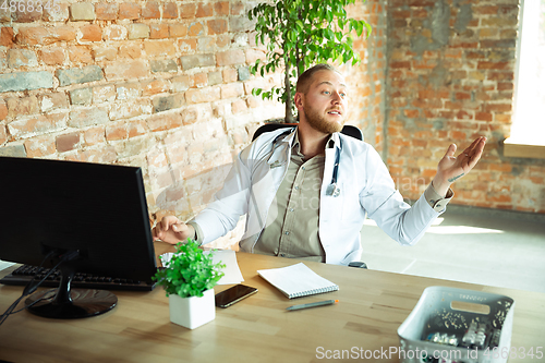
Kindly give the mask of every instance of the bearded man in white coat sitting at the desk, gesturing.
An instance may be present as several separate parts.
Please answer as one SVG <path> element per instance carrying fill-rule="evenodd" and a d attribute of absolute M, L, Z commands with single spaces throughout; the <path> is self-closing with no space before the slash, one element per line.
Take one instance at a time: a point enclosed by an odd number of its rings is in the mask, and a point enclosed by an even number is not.
<path fill-rule="evenodd" d="M 243 149 L 223 187 L 193 220 L 167 216 L 154 240 L 208 243 L 246 215 L 243 252 L 348 265 L 360 261 L 368 218 L 400 244 L 412 245 L 446 209 L 450 185 L 476 165 L 486 138 L 460 155 L 451 144 L 426 191 L 411 207 L 395 189 L 378 153 L 341 134 L 349 95 L 343 76 L 318 64 L 298 80 L 296 128 L 262 134 Z"/>

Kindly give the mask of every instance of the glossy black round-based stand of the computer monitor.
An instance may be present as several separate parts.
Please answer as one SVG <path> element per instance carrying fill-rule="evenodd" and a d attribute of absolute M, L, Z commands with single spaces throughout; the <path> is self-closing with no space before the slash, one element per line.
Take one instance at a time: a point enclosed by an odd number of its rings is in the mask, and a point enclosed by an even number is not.
<path fill-rule="evenodd" d="M 72 264 L 62 264 L 61 283 L 57 293 L 51 298 L 43 299 L 49 291 L 39 291 L 26 299 L 27 310 L 41 317 L 57 319 L 74 319 L 104 314 L 112 310 L 118 298 L 105 290 L 70 289 L 75 268 Z M 38 302 L 36 302 L 38 301 Z M 36 303 L 35 303 L 36 302 Z"/>

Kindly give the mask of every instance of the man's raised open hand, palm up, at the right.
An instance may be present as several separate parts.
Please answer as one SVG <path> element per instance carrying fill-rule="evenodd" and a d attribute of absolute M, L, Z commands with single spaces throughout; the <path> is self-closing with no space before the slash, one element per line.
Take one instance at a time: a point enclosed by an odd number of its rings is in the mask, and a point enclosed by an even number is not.
<path fill-rule="evenodd" d="M 477 137 L 458 157 L 455 157 L 456 144 L 450 144 L 447 154 L 440 159 L 437 166 L 437 173 L 432 181 L 437 193 L 446 195 L 455 181 L 468 174 L 473 169 L 479 159 L 481 159 L 481 155 L 483 155 L 485 144 L 486 137 Z"/>

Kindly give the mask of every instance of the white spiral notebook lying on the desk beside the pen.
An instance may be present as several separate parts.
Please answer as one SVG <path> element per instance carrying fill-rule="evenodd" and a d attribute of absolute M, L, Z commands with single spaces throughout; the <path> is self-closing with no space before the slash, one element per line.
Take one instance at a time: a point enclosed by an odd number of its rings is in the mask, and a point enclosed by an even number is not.
<path fill-rule="evenodd" d="M 261 269 L 257 274 L 289 299 L 339 290 L 337 285 L 317 275 L 303 263 L 281 268 Z"/>

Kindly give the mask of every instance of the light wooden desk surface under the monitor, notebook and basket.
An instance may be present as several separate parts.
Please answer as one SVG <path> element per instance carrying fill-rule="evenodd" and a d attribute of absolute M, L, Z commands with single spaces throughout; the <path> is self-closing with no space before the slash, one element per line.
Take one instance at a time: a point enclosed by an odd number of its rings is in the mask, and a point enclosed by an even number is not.
<path fill-rule="evenodd" d="M 156 244 L 156 251 L 166 246 Z M 170 323 L 168 298 L 152 292 L 118 291 L 118 306 L 104 315 L 52 320 L 22 312 L 0 326 L 0 360 L 13 362 L 318 362 L 326 353 L 355 349 L 389 351 L 398 347 L 397 329 L 429 286 L 446 286 L 508 295 L 516 300 L 512 347 L 544 347 L 545 294 L 398 275 L 319 263 L 305 264 L 339 285 L 340 290 L 289 300 L 263 280 L 257 269 L 295 261 L 238 253 L 244 283 L 259 292 L 216 319 L 189 330 Z M 216 291 L 227 286 L 216 287 Z M 0 286 L 0 312 L 21 294 L 21 287 Z M 287 312 L 286 307 L 326 299 L 331 306 Z M 545 348 L 542 348 L 543 352 Z M 329 352 L 327 352 L 329 351 Z M 363 356 L 363 353 L 362 353 Z M 399 362 L 392 354 L 370 362 Z M 339 360 L 335 360 L 339 361 Z M 348 359 L 347 361 L 354 361 Z M 510 359 L 509 362 L 544 362 Z"/>

